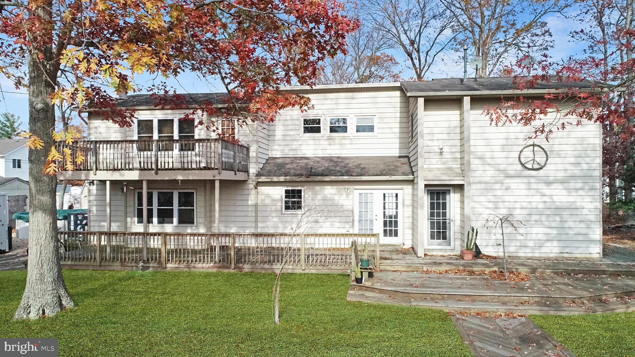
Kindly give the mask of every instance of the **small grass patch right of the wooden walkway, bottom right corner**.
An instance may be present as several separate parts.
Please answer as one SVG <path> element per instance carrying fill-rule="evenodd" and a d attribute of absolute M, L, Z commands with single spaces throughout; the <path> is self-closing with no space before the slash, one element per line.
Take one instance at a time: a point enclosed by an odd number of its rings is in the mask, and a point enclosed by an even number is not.
<path fill-rule="evenodd" d="M 578 357 L 635 356 L 635 313 L 531 316 Z"/>

